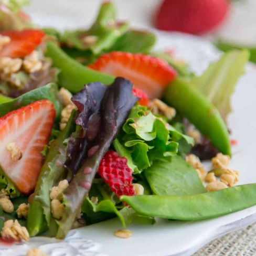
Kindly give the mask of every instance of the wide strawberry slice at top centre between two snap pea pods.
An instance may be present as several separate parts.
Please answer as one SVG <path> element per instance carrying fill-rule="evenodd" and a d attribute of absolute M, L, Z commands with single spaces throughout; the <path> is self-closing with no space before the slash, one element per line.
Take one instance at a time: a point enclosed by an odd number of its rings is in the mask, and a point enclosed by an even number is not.
<path fill-rule="evenodd" d="M 150 99 L 161 97 L 164 88 L 177 76 L 176 70 L 165 61 L 129 52 L 104 54 L 89 68 L 131 80 L 135 88 L 142 89 Z"/>

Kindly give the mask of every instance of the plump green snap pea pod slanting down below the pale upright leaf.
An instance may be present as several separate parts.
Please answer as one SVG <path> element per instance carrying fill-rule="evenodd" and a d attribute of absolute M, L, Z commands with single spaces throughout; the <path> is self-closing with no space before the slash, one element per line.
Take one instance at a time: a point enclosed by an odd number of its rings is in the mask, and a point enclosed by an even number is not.
<path fill-rule="evenodd" d="M 215 106 L 187 80 L 178 77 L 168 87 L 164 100 L 209 137 L 218 150 L 231 155 L 229 133 Z"/>

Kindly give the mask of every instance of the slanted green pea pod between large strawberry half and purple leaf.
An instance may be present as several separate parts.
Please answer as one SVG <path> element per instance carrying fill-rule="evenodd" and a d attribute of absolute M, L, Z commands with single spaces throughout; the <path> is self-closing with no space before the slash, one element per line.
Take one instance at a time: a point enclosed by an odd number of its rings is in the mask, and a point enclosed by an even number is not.
<path fill-rule="evenodd" d="M 71 132 L 75 130 L 74 127 L 76 125 L 72 121 L 73 118 L 74 111 L 65 129 L 61 132 L 59 137 L 50 144 L 46 161 L 41 168 L 34 192 L 35 197 L 30 202 L 27 218 L 27 229 L 31 237 L 46 231 L 50 225 L 51 211 L 49 190 L 54 186 L 56 179 L 58 179 L 65 170 L 63 166 L 57 167 L 56 162 L 57 159 L 60 160 L 58 156 L 61 155 L 60 149 L 63 147 L 63 142 L 70 136 Z"/>

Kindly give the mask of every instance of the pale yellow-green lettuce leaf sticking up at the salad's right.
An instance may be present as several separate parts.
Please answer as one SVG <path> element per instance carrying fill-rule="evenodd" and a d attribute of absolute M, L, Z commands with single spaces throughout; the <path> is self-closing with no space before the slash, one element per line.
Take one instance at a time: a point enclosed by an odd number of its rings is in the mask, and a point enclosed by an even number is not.
<path fill-rule="evenodd" d="M 226 123 L 231 112 L 231 95 L 244 73 L 249 56 L 248 50 L 228 51 L 219 61 L 211 63 L 201 77 L 191 79 L 191 82 L 216 106 Z"/>

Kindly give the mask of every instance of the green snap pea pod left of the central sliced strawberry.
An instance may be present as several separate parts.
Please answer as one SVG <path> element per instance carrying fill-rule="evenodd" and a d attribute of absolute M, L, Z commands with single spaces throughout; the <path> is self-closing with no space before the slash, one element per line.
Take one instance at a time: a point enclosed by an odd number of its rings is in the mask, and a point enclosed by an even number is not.
<path fill-rule="evenodd" d="M 52 59 L 54 67 L 61 70 L 59 74 L 61 86 L 73 93 L 80 91 L 86 83 L 98 81 L 111 84 L 115 79 L 113 76 L 83 66 L 65 54 L 54 42 L 47 43 L 47 56 Z"/>

